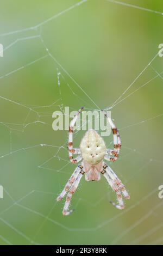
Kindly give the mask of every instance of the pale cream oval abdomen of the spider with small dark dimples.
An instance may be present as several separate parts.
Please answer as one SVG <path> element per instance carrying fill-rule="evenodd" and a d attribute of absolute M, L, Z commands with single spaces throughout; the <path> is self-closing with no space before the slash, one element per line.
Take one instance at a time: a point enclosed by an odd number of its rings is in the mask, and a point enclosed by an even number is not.
<path fill-rule="evenodd" d="M 86 162 L 96 165 L 103 160 L 106 146 L 102 137 L 95 130 L 89 130 L 80 143 L 80 150 Z"/>

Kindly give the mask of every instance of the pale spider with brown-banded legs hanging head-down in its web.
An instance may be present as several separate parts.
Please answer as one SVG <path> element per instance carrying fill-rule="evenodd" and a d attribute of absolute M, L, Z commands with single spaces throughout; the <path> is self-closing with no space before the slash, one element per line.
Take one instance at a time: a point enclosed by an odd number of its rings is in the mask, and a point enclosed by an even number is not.
<path fill-rule="evenodd" d="M 107 117 L 106 113 L 103 111 L 112 129 L 114 138 L 114 149 L 106 149 L 103 138 L 99 136 L 95 130 L 88 130 L 80 143 L 80 148 L 73 148 L 73 126 L 76 123 L 78 115 L 80 114 L 82 109 L 83 107 L 79 109 L 78 113 L 70 122 L 68 136 L 68 153 L 71 163 L 78 163 L 82 160 L 83 161 L 74 170 L 66 186 L 64 187 L 64 190 L 57 197 L 57 201 L 60 201 L 62 198 L 65 197 L 66 193 L 68 192 L 62 214 L 70 215 L 73 211 L 69 210 L 72 194 L 76 191 L 79 182 L 84 174 L 86 181 L 98 181 L 101 179 L 101 174 L 104 175 L 112 190 L 116 192 L 118 200 L 118 204 L 114 202 L 110 203 L 114 205 L 117 209 L 124 209 L 122 195 L 126 199 L 130 199 L 130 196 L 126 191 L 126 188 L 122 184 L 121 180 L 118 179 L 117 175 L 108 166 L 108 164 L 103 161 L 103 159 L 105 159 L 107 161 L 115 162 L 118 158 L 118 154 L 121 148 L 121 140 L 118 130 L 116 129 L 111 118 Z M 73 158 L 73 154 L 78 155 L 76 159 Z"/>

